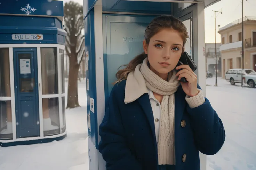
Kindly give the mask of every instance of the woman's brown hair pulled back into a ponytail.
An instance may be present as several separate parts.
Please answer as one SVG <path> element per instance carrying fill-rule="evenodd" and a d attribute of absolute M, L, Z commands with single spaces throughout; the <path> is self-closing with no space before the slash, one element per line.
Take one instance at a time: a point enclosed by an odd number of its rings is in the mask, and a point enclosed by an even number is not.
<path fill-rule="evenodd" d="M 177 30 L 181 33 L 181 37 L 183 39 L 183 47 L 187 41 L 188 33 L 186 26 L 180 21 L 179 19 L 170 16 L 170 15 L 161 15 L 155 17 L 151 23 L 147 26 L 144 37 L 146 44 L 149 44 L 150 38 L 153 37 L 156 33 L 158 33 L 163 28 L 171 28 L 173 30 Z M 182 48 L 182 53 L 184 52 L 184 48 Z M 127 76 L 130 72 L 134 71 L 138 64 L 141 64 L 143 60 L 147 57 L 147 54 L 144 52 L 142 54 L 137 55 L 134 57 L 133 60 L 129 62 L 127 65 L 122 65 L 120 67 L 126 66 L 124 69 L 118 70 L 117 74 L 117 81 L 114 84 L 127 79 Z M 119 67 L 119 68 L 120 68 Z"/>

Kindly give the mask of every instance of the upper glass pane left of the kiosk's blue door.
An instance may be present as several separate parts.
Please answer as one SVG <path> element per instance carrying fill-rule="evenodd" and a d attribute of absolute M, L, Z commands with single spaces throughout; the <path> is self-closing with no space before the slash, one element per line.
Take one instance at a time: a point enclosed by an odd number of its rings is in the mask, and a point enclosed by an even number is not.
<path fill-rule="evenodd" d="M 11 97 L 9 48 L 0 48 L 0 97 Z"/>

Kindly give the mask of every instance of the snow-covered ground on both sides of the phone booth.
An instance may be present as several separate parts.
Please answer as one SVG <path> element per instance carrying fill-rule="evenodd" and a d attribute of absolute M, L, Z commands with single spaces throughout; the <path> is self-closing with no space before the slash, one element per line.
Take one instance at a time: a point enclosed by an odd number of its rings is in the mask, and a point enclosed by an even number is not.
<path fill-rule="evenodd" d="M 256 89 L 207 81 L 206 97 L 221 117 L 226 141 L 221 151 L 207 156 L 207 170 L 256 170 Z M 66 85 L 67 87 L 67 85 Z M 66 110 L 64 140 L 27 146 L 0 147 L 0 170 L 89 170 L 86 83 L 79 82 L 80 108 Z M 67 99 L 67 97 L 66 97 Z"/>

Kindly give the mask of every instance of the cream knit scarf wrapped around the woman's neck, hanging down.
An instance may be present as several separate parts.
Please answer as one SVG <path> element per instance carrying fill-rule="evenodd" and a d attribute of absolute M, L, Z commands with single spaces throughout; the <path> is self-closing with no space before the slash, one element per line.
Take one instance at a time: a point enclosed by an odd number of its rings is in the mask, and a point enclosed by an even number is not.
<path fill-rule="evenodd" d="M 174 165 L 174 93 L 180 83 L 175 76 L 176 70 L 169 73 L 169 81 L 167 82 L 151 71 L 147 62 L 147 58 L 144 59 L 140 68 L 141 74 L 145 78 L 146 87 L 159 95 L 163 95 L 158 140 L 158 162 L 159 165 Z"/>

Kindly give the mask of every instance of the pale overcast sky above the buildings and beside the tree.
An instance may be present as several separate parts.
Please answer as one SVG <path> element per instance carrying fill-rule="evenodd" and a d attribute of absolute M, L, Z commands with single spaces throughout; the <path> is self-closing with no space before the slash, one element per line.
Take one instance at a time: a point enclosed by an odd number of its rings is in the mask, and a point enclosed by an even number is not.
<path fill-rule="evenodd" d="M 70 0 L 63 0 L 68 2 Z M 83 0 L 73 0 L 83 5 Z M 231 3 L 232 2 L 232 3 Z M 215 42 L 214 37 L 214 12 L 221 11 L 222 14 L 216 13 L 216 32 L 218 31 L 218 25 L 221 27 L 242 18 L 242 0 L 221 0 L 214 5 L 205 9 L 205 42 Z M 256 0 L 244 0 L 244 16 L 256 17 Z M 221 42 L 221 37 L 216 33 L 216 42 Z"/>

